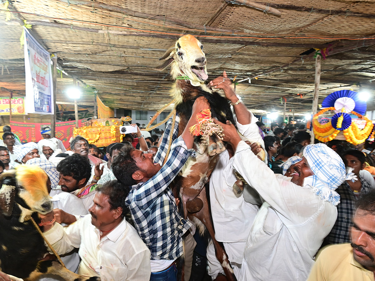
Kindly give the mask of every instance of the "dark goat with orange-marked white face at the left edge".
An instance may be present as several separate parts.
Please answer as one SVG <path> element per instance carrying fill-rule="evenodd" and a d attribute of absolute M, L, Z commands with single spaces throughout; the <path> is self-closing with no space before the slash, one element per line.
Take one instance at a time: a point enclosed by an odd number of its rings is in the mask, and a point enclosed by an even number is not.
<path fill-rule="evenodd" d="M 67 281 L 99 281 L 98 277 L 75 274 L 55 260 L 42 261 L 48 254 L 47 247 L 29 219 L 40 221 L 37 213 L 52 211 L 47 178 L 35 165 L 20 165 L 1 174 L 0 271 L 25 281 L 43 274 L 55 274 Z"/>

